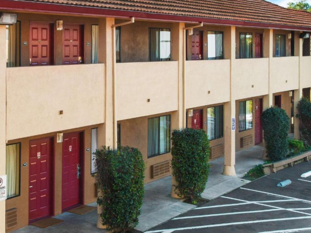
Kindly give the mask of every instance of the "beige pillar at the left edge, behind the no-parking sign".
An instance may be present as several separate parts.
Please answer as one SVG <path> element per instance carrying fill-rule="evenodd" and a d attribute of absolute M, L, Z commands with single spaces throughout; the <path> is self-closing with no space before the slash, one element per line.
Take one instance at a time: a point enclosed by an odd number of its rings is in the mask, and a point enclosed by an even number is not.
<path fill-rule="evenodd" d="M 0 25 L 0 175 L 6 163 L 6 26 Z M 0 232 L 5 232 L 5 200 L 0 201 Z"/>

